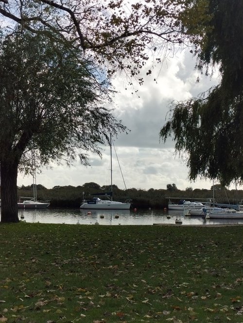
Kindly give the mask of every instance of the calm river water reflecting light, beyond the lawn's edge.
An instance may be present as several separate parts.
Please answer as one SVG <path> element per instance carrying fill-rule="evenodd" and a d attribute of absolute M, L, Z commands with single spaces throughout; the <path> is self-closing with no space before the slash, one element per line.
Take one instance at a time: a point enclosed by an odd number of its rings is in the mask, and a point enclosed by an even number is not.
<path fill-rule="evenodd" d="M 175 219 L 180 218 L 180 225 L 226 225 L 241 224 L 242 220 L 202 219 L 200 216 L 184 216 L 183 211 L 174 210 L 87 210 L 79 209 L 45 209 L 45 210 L 18 210 L 21 221 L 31 223 L 65 223 L 94 225 L 154 225 L 175 224 Z M 170 218 L 168 218 L 170 217 Z"/>

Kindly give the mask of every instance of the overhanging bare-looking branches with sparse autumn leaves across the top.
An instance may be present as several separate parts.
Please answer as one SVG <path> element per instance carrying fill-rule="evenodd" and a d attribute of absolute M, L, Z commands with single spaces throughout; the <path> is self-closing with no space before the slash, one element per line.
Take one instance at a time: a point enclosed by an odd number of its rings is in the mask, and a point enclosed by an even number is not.
<path fill-rule="evenodd" d="M 108 77 L 119 69 L 142 82 L 139 70 L 152 55 L 160 63 L 166 52 L 173 54 L 174 44 L 188 42 L 183 25 L 190 25 L 191 40 L 201 37 L 203 22 L 208 21 L 207 3 L 208 0 L 0 0 L 0 17 L 7 32 L 17 23 L 21 29 L 68 41 L 105 65 Z"/>

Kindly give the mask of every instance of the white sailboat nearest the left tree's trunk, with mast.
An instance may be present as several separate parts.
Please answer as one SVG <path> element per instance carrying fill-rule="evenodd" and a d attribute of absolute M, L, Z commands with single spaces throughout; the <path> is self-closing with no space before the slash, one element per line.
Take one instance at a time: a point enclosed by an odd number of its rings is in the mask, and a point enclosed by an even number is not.
<path fill-rule="evenodd" d="M 33 164 L 35 157 L 33 157 Z M 37 201 L 37 192 L 36 192 L 36 172 L 35 167 L 33 167 L 33 197 L 24 197 L 20 196 L 19 201 L 17 202 L 18 209 L 46 209 L 50 205 L 50 201 Z"/>

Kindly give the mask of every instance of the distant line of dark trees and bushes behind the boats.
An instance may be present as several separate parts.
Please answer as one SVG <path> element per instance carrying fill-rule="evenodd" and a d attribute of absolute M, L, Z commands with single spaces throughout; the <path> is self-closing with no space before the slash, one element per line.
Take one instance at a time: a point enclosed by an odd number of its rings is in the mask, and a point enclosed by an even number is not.
<path fill-rule="evenodd" d="M 130 188 L 121 190 L 117 185 L 113 185 L 113 199 L 124 201 L 132 200 L 132 208 L 139 209 L 164 209 L 168 207 L 169 198 L 172 198 L 174 203 L 179 199 L 187 200 L 202 200 L 206 201 L 213 199 L 213 186 L 210 190 L 192 189 L 187 187 L 185 190 L 177 189 L 175 184 L 168 184 L 167 189 L 142 190 Z M 50 200 L 53 208 L 79 208 L 84 199 L 92 199 L 96 193 L 109 192 L 110 186 L 100 186 L 97 183 L 89 182 L 84 185 L 75 186 L 54 186 L 52 189 L 47 189 L 41 184 L 36 185 L 37 199 Z M 32 197 L 33 184 L 29 186 L 22 185 L 18 187 L 18 198 L 20 196 Z M 214 197 L 218 203 L 239 203 L 243 199 L 243 190 L 228 190 L 219 184 L 214 185 Z"/>

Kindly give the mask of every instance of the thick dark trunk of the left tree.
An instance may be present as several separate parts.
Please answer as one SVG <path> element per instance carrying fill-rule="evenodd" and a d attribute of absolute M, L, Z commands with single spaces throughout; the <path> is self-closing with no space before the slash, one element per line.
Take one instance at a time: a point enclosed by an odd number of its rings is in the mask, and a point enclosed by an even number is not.
<path fill-rule="evenodd" d="M 17 164 L 0 161 L 1 223 L 19 222 L 17 209 Z"/>

